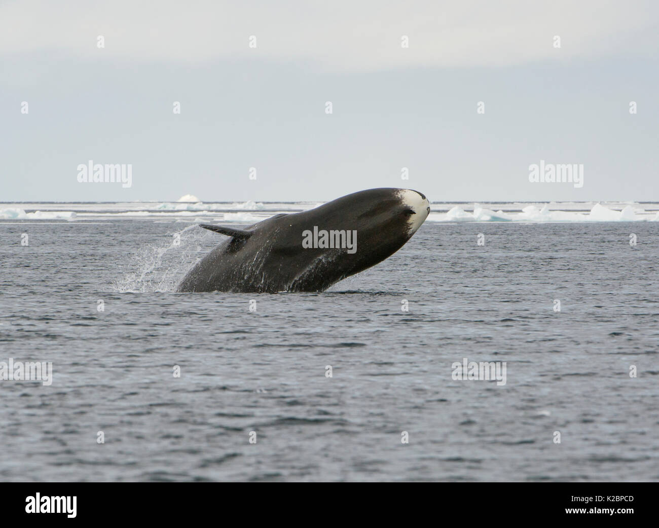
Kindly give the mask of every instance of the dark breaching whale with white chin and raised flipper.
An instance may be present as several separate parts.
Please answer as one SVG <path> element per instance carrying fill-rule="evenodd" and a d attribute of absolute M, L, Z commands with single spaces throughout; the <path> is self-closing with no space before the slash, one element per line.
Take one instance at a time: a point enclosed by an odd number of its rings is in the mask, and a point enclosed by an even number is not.
<path fill-rule="evenodd" d="M 429 213 L 418 191 L 369 189 L 246 229 L 202 223 L 231 238 L 202 258 L 177 291 L 324 291 L 401 249 Z"/>

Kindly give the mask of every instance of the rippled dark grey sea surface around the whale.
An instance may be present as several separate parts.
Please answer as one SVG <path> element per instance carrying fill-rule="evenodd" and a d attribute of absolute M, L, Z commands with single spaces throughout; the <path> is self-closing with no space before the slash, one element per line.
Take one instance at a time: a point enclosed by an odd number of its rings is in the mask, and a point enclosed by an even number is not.
<path fill-rule="evenodd" d="M 192 224 L 0 222 L 0 361 L 54 371 L 0 381 L 0 479 L 656 481 L 657 226 L 426 223 L 326 293 L 254 295 L 172 293 L 222 239 Z"/>

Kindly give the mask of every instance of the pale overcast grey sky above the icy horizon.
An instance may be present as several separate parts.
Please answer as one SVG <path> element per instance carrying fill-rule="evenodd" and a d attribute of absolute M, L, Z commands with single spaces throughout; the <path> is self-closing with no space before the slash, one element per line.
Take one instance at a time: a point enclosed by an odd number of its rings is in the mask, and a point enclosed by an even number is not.
<path fill-rule="evenodd" d="M 656 1 L 2 1 L 0 69 L 3 202 L 659 200 Z"/>

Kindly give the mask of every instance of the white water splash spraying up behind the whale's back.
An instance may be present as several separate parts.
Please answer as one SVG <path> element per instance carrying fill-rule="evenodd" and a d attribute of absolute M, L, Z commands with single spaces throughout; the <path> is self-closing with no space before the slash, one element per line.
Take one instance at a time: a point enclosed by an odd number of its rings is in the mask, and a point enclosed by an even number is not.
<path fill-rule="evenodd" d="M 207 233 L 197 225 L 188 225 L 171 235 L 167 246 L 148 246 L 129 255 L 125 271 L 111 284 L 117 293 L 175 291 L 179 281 L 207 251 L 202 239 Z"/>

